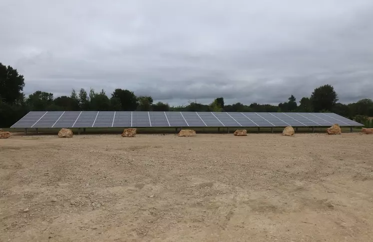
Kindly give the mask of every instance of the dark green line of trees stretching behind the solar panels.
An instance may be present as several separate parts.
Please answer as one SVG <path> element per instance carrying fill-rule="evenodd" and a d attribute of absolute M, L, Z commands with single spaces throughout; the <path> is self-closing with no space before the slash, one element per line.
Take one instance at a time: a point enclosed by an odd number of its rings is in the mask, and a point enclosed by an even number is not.
<path fill-rule="evenodd" d="M 78 92 L 72 90 L 70 96 L 54 97 L 52 93 L 36 91 L 26 97 L 23 94 L 24 85 L 24 77 L 16 69 L 0 63 L 0 127 L 12 125 L 29 111 L 333 112 L 363 123 L 368 117 L 373 117 L 371 99 L 347 105 L 339 103 L 334 87 L 328 84 L 316 88 L 310 97 L 303 97 L 299 103 L 290 94 L 289 99 L 279 105 L 226 105 L 224 98 L 219 97 L 208 105 L 191 102 L 176 107 L 120 88 L 109 95 L 103 89 L 99 92 L 80 89 Z"/>

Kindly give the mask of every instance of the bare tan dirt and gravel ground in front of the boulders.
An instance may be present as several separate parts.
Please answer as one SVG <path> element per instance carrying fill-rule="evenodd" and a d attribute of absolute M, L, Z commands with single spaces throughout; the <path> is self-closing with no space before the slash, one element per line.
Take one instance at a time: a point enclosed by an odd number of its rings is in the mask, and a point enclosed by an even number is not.
<path fill-rule="evenodd" d="M 13 136 L 0 241 L 373 241 L 373 135 Z"/>

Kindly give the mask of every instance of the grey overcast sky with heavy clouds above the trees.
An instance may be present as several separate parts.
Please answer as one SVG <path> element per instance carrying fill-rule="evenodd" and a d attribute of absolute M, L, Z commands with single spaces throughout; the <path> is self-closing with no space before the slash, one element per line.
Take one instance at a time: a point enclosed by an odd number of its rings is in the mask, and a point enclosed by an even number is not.
<path fill-rule="evenodd" d="M 25 94 L 115 88 L 182 105 L 373 98 L 373 0 L 0 0 Z"/>

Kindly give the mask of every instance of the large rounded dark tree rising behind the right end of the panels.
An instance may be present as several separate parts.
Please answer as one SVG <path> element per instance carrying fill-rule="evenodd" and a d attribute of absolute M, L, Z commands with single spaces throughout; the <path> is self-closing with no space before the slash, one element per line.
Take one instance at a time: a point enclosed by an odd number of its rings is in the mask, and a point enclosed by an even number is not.
<path fill-rule="evenodd" d="M 338 95 L 331 85 L 324 85 L 314 90 L 311 102 L 315 112 L 331 111 L 338 101 Z"/>

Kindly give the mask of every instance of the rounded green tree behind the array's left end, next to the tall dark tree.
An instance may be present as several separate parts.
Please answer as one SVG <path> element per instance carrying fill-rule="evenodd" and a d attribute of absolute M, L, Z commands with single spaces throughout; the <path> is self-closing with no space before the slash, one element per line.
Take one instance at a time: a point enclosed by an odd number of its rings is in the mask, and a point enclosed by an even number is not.
<path fill-rule="evenodd" d="M 53 94 L 36 91 L 28 96 L 26 103 L 31 111 L 53 110 Z"/>

